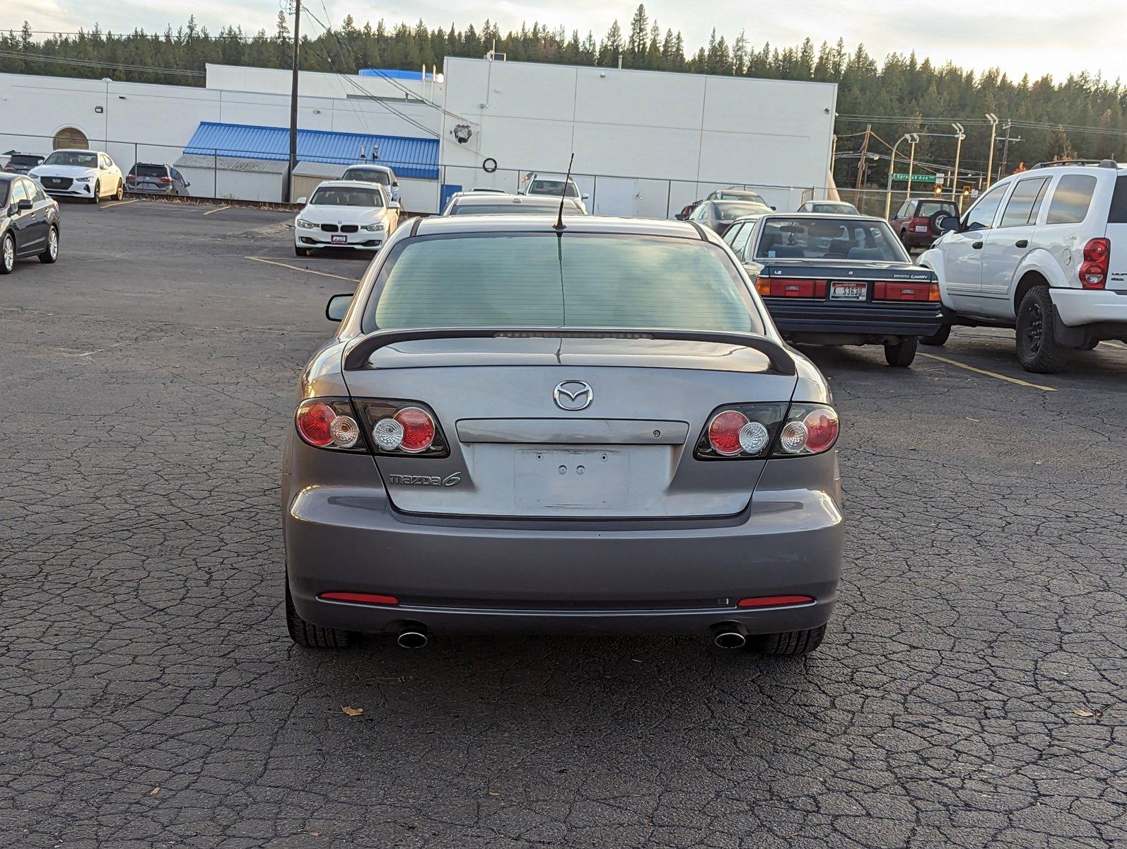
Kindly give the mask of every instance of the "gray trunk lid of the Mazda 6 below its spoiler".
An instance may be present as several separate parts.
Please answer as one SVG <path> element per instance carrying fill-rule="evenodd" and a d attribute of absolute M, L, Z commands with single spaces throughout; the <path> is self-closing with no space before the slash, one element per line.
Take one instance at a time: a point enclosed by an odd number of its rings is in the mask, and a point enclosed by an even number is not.
<path fill-rule="evenodd" d="M 740 345 L 552 336 L 399 342 L 345 379 L 354 398 L 429 405 L 450 445 L 443 459 L 378 453 L 398 510 L 549 519 L 739 513 L 764 461 L 695 460 L 696 441 L 717 407 L 784 406 L 797 380 Z M 569 381 L 588 384 L 588 406 L 557 404 Z"/>

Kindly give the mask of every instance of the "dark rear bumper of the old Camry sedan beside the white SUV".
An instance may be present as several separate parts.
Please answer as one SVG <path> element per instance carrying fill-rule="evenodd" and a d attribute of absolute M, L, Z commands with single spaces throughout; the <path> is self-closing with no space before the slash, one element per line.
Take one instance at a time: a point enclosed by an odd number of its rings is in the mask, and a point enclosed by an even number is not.
<path fill-rule="evenodd" d="M 764 298 L 763 302 L 783 336 L 833 334 L 859 336 L 931 336 L 944 324 L 939 302 L 834 303 Z"/>

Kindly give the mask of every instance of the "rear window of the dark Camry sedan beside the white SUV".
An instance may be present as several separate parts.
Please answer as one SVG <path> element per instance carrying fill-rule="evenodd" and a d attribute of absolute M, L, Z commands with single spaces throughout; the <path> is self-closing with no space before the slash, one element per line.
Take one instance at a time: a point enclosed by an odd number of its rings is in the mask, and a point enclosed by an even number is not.
<path fill-rule="evenodd" d="M 908 262 L 884 221 L 842 218 L 772 218 L 763 222 L 757 259 L 873 259 Z"/>

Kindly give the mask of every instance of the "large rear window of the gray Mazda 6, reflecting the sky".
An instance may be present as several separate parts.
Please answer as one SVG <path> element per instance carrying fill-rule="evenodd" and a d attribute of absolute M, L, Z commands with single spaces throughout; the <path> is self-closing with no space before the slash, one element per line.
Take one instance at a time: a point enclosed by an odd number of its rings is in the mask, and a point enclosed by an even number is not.
<path fill-rule="evenodd" d="M 744 278 L 717 246 L 601 233 L 401 241 L 363 320 L 365 331 L 521 326 L 764 331 Z"/>

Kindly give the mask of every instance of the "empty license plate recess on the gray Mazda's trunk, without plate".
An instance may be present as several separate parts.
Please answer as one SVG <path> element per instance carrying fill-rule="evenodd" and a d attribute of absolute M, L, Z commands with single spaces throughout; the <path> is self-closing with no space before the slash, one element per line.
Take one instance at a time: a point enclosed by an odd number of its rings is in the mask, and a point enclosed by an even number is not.
<path fill-rule="evenodd" d="M 514 469 L 517 504 L 570 508 L 624 504 L 629 470 L 624 451 L 521 449 Z"/>

